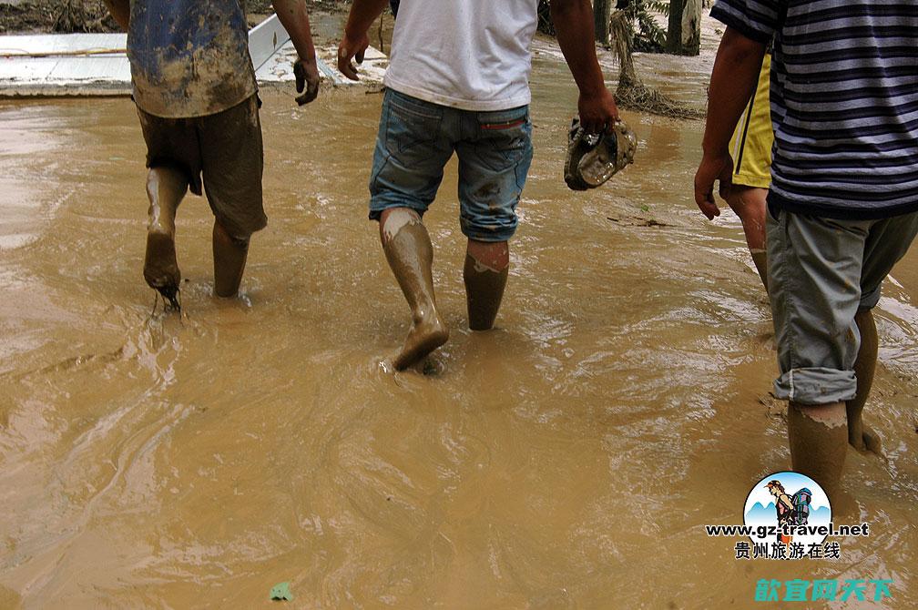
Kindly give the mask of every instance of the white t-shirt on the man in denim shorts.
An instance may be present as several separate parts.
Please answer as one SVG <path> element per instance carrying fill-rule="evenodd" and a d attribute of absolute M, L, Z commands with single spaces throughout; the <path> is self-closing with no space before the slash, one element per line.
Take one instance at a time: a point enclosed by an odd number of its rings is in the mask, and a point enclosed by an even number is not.
<path fill-rule="evenodd" d="M 463 110 L 530 103 L 538 0 L 401 0 L 387 87 Z"/>

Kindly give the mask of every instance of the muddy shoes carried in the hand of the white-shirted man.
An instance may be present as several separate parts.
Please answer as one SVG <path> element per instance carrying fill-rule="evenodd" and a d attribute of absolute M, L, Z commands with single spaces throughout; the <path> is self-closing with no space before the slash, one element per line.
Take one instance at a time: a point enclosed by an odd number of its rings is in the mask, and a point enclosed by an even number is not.
<path fill-rule="evenodd" d="M 572 190 L 596 188 L 634 162 L 637 138 L 621 120 L 611 132 L 596 135 L 588 134 L 575 118 L 567 138 L 565 183 Z"/>

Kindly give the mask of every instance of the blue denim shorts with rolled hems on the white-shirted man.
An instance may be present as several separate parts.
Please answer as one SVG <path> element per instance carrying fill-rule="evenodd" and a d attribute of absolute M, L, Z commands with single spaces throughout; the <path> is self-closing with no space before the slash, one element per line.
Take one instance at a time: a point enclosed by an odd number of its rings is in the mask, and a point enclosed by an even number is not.
<path fill-rule="evenodd" d="M 443 166 L 459 156 L 459 221 L 465 236 L 506 241 L 532 162 L 529 106 L 476 112 L 386 89 L 370 177 L 370 219 L 390 207 L 420 216 L 437 194 Z"/>

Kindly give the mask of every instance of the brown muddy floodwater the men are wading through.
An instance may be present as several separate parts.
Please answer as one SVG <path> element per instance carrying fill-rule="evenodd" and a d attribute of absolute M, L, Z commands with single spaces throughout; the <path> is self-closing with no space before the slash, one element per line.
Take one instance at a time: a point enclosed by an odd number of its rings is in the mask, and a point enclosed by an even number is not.
<path fill-rule="evenodd" d="M 692 202 L 703 126 L 624 113 L 635 165 L 575 194 L 576 89 L 545 57 L 532 85 L 493 332 L 465 326 L 454 164 L 426 216 L 453 328 L 427 374 L 379 365 L 408 328 L 366 220 L 379 94 L 263 92 L 270 225 L 220 302 L 185 200 L 183 319 L 141 278 L 129 100 L 0 102 L 0 607 L 265 607 L 282 581 L 296 608 L 756 607 L 759 578 L 889 578 L 885 607 L 913 607 L 918 252 L 878 310 L 888 460 L 846 466 L 846 522 L 873 535 L 734 560 L 702 526 L 741 523 L 789 451 L 740 225 Z"/>

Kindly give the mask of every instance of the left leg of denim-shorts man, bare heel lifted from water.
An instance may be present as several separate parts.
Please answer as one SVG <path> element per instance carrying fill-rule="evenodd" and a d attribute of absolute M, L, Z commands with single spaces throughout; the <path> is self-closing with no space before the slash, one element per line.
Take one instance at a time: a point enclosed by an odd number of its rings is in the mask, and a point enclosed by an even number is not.
<path fill-rule="evenodd" d="M 392 362 L 400 371 L 442 346 L 450 331 L 437 311 L 431 237 L 418 213 L 407 207 L 388 209 L 379 219 L 379 231 L 386 261 L 411 308 L 413 324 L 405 345 Z"/>

